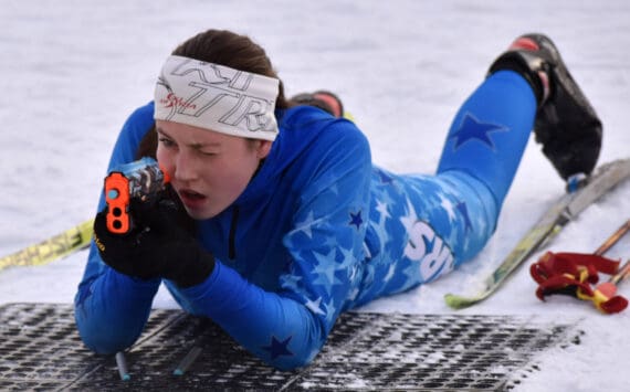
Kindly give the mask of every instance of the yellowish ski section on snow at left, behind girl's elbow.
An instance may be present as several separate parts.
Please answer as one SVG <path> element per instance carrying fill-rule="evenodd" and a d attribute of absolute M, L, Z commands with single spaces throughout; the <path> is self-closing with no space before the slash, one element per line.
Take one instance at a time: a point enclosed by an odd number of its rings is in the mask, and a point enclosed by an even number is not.
<path fill-rule="evenodd" d="M 0 258 L 0 271 L 19 265 L 42 265 L 90 245 L 94 220 L 87 220 L 38 244 Z"/>

